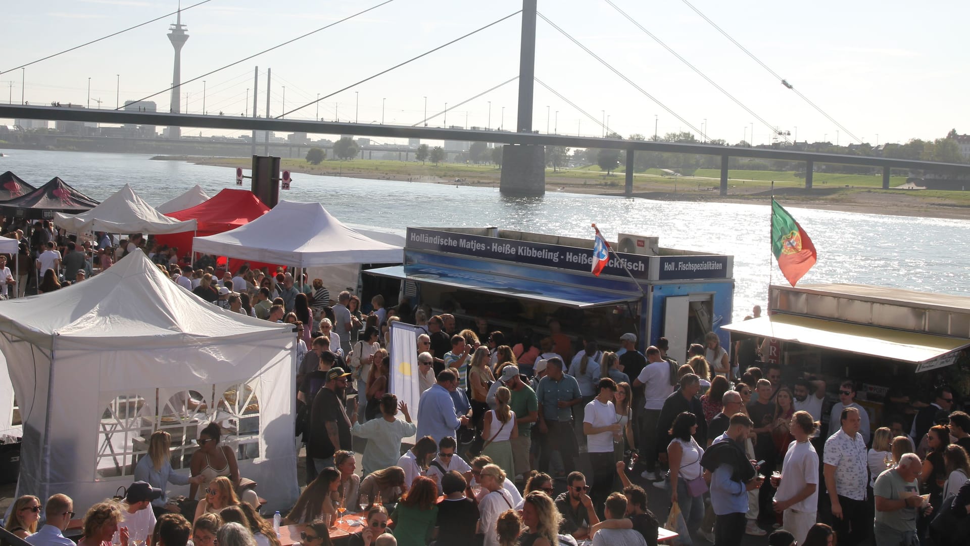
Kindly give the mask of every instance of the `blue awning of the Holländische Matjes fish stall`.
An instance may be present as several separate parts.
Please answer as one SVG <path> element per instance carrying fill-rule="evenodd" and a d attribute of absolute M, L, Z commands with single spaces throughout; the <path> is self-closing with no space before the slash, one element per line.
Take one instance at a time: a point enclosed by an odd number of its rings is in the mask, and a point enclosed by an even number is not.
<path fill-rule="evenodd" d="M 441 265 L 395 265 L 369 269 L 366 273 L 403 281 L 433 283 L 462 290 L 545 301 L 580 309 L 602 305 L 618 305 L 628 301 L 637 301 L 643 297 L 642 294 L 634 292 L 594 290 Z"/>

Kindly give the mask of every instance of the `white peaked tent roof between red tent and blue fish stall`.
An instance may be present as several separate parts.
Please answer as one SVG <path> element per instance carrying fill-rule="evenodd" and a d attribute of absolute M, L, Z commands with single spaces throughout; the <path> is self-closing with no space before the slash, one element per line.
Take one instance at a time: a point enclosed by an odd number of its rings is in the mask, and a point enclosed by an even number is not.
<path fill-rule="evenodd" d="M 193 239 L 193 252 L 310 268 L 355 286 L 362 263 L 401 263 L 402 246 L 368 237 L 331 216 L 320 203 L 279 201 L 268 213 L 236 229 Z M 312 271 L 311 271 L 312 272 Z M 348 284 L 352 281 L 352 284 Z M 335 286 L 335 285 L 331 285 Z M 330 289 L 330 287 L 328 287 Z M 339 290 L 331 292 L 336 294 Z"/>

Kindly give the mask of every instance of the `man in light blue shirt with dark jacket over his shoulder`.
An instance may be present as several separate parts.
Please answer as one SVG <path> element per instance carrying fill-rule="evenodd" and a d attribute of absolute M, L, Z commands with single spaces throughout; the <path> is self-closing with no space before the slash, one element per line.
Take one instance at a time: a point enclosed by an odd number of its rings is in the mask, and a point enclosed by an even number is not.
<path fill-rule="evenodd" d="M 701 459 L 705 468 L 714 469 L 711 507 L 717 516 L 714 543 L 718 546 L 740 546 L 747 525 L 748 492 L 764 481 L 744 453 L 744 440 L 754 425 L 747 415 L 734 414 L 727 432 L 714 440 Z"/>

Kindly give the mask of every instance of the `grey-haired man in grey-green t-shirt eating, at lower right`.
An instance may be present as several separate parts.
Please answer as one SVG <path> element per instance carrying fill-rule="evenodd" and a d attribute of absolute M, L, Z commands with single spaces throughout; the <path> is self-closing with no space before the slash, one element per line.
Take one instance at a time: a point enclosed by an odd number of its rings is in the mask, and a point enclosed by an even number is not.
<path fill-rule="evenodd" d="M 876 544 L 916 543 L 916 517 L 923 504 L 917 481 L 922 463 L 916 454 L 902 456 L 895 468 L 876 478 L 872 491 L 876 496 L 876 523 L 873 535 Z M 925 514 L 933 507 L 926 504 Z"/>

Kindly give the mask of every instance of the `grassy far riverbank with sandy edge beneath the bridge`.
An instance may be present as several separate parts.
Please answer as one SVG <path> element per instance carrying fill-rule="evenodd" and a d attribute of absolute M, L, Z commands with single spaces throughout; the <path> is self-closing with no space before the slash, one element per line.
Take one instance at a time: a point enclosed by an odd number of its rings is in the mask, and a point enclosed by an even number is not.
<path fill-rule="evenodd" d="M 161 155 L 157 160 L 190 161 L 200 165 L 248 169 L 250 159 L 232 157 L 198 157 Z M 498 188 L 501 169 L 492 165 L 354 159 L 327 160 L 318 165 L 303 159 L 281 159 L 281 168 L 297 173 L 371 180 L 398 180 L 430 184 L 448 184 Z M 816 173 L 815 188 L 805 189 L 797 173 L 735 171 L 741 178 L 728 179 L 728 194 L 722 196 L 719 181 L 710 176 L 670 177 L 655 174 L 657 169 L 637 173 L 633 179 L 633 196 L 664 201 L 697 201 L 741 204 L 768 204 L 772 191 L 792 207 L 881 214 L 921 218 L 970 220 L 970 191 L 936 189 L 882 189 L 879 177 L 863 175 L 827 175 Z M 707 173 L 705 173 L 707 174 Z M 774 179 L 772 179 L 774 177 Z M 893 177 L 892 185 L 905 179 Z M 896 180 L 901 179 L 901 180 Z M 547 170 L 546 191 L 564 191 L 596 195 L 624 194 L 624 174 L 604 174 L 590 170 Z M 299 177 L 294 176 L 299 185 Z M 772 189 L 773 188 L 773 189 Z"/>

